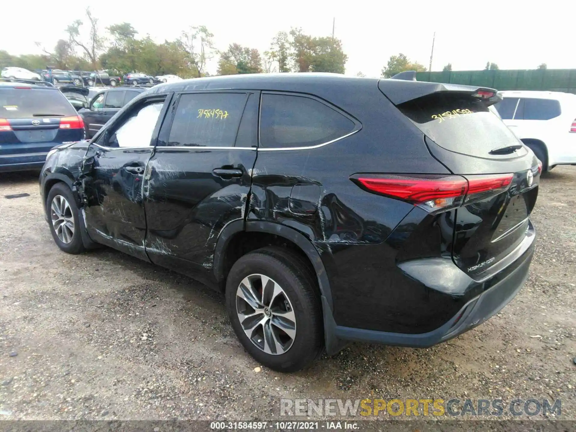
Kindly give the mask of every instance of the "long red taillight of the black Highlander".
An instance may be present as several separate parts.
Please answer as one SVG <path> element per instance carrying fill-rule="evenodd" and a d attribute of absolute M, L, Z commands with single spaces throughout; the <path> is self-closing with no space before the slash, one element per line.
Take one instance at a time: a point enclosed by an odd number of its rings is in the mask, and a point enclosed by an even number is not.
<path fill-rule="evenodd" d="M 401 199 L 429 213 L 453 209 L 501 194 L 510 187 L 513 174 L 355 175 L 350 179 L 374 194 Z"/>

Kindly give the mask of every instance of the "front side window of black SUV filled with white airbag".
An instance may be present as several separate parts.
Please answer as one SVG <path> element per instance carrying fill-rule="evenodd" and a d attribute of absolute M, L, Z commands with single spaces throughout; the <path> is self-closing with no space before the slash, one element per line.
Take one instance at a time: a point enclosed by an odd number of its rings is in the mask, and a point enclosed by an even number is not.
<path fill-rule="evenodd" d="M 113 128 L 113 134 L 109 137 L 107 146 L 149 146 L 163 106 L 164 101 L 153 101 L 135 107 L 119 127 Z"/>

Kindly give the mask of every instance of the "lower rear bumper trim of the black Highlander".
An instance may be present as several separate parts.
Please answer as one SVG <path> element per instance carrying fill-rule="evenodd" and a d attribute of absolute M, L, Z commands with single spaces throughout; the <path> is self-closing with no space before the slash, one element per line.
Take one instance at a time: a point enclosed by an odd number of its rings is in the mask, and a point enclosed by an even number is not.
<path fill-rule="evenodd" d="M 530 228 L 533 227 L 530 225 Z M 458 335 L 482 324 L 506 306 L 524 286 L 534 253 L 535 233 L 528 238 L 525 251 L 510 267 L 514 270 L 505 276 L 496 274 L 498 282 L 491 285 L 482 294 L 468 301 L 454 316 L 441 327 L 422 334 L 404 334 L 374 331 L 361 328 L 342 327 L 337 325 L 335 336 L 341 340 L 383 343 L 387 345 L 426 348 L 440 342 L 455 338 Z M 503 270 L 502 273 L 505 273 Z M 487 281 L 489 282 L 489 281 Z"/>

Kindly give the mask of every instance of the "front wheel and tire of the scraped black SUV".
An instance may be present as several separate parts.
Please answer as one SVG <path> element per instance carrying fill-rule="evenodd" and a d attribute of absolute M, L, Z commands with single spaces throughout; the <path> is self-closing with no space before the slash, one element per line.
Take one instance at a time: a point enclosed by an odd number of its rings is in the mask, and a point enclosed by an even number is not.
<path fill-rule="evenodd" d="M 66 203 L 63 203 L 63 199 Z M 54 207 L 52 207 L 53 205 Z M 78 221 L 78 206 L 72 191 L 65 183 L 56 183 L 51 188 L 46 199 L 46 208 L 48 209 L 50 232 L 56 245 L 66 253 L 84 252 L 86 249 L 82 243 L 81 227 Z M 58 221 L 62 220 L 66 222 L 59 224 Z M 70 221 L 73 222 L 71 229 Z M 55 229 L 55 225 L 59 226 L 58 232 Z"/>

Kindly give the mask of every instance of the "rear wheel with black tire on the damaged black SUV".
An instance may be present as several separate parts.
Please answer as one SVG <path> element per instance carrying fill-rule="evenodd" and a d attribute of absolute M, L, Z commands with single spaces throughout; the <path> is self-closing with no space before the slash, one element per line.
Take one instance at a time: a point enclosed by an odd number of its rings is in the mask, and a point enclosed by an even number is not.
<path fill-rule="evenodd" d="M 262 289 L 261 275 L 270 279 L 266 285 L 266 294 Z M 226 309 L 236 336 L 257 362 L 278 372 L 295 372 L 309 366 L 323 353 L 322 308 L 315 280 L 316 275 L 308 270 L 300 257 L 279 247 L 257 249 L 234 263 L 226 280 Z M 244 292 L 248 290 L 254 295 L 251 301 L 257 299 L 254 305 L 269 305 L 270 308 L 251 308 L 244 300 L 249 295 L 242 294 L 244 298 L 237 295 L 242 293 L 241 283 Z M 266 299 L 270 299 L 273 291 L 278 292 L 278 288 L 281 293 L 270 304 Z M 251 339 L 241 321 L 244 325 L 255 321 L 250 321 L 252 317 L 241 319 L 239 314 L 251 314 L 257 310 L 263 313 L 253 315 L 253 319 L 262 317 L 267 321 L 264 325 L 259 323 L 253 326 Z M 293 337 L 273 322 L 281 323 Z M 264 337 L 265 328 L 268 329 L 268 338 Z M 272 344 L 267 343 L 268 340 Z M 266 348 L 269 352 L 265 351 Z"/>

